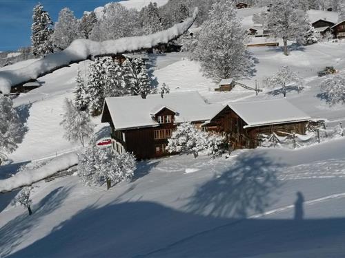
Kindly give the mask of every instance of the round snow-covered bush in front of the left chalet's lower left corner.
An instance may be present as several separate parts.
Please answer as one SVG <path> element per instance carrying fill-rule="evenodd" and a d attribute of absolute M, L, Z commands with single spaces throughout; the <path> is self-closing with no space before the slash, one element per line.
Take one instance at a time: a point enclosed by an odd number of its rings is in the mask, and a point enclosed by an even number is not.
<path fill-rule="evenodd" d="M 117 153 L 110 148 L 99 148 L 91 141 L 78 164 L 78 175 L 87 185 L 112 185 L 132 178 L 136 168 L 134 155 Z"/>

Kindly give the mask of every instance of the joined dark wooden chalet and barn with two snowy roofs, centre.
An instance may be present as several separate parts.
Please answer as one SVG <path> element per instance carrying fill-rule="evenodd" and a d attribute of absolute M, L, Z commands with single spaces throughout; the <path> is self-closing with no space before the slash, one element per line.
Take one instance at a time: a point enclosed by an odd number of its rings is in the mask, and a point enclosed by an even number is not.
<path fill-rule="evenodd" d="M 111 127 L 112 147 L 140 159 L 169 155 L 168 138 L 182 122 L 228 136 L 235 148 L 255 148 L 261 133 L 304 134 L 311 117 L 287 100 L 206 104 L 197 92 L 106 98 L 101 122 Z"/>

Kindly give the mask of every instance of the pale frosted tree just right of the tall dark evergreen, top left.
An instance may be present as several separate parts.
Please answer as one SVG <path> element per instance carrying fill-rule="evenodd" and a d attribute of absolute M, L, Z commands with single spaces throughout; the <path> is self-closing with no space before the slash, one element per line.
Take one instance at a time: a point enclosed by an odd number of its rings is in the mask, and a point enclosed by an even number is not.
<path fill-rule="evenodd" d="M 54 26 L 52 43 L 59 50 L 64 50 L 73 40 L 81 38 L 79 23 L 69 8 L 63 8 L 59 12 L 59 18 Z"/>

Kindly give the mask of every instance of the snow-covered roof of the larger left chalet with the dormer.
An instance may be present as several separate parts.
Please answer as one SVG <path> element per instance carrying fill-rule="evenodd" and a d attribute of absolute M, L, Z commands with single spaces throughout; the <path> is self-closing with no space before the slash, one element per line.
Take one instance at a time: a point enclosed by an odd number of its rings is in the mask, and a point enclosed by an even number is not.
<path fill-rule="evenodd" d="M 208 105 L 197 92 L 150 94 L 145 99 L 141 96 L 106 98 L 104 109 L 108 107 L 115 129 L 133 129 L 155 127 L 159 123 L 152 118 L 153 113 L 163 107 L 175 111 L 175 123 L 210 120 L 219 113 L 224 105 Z M 103 118 L 102 122 L 108 122 Z M 155 113 L 157 114 L 157 113 Z"/>

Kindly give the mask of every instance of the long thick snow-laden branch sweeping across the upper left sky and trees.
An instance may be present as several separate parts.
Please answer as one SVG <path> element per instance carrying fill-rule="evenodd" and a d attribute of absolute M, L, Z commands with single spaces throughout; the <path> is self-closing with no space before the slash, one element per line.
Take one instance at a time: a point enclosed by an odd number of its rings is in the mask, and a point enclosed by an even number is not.
<path fill-rule="evenodd" d="M 76 39 L 66 50 L 50 54 L 27 67 L 0 72 L 0 92 L 9 94 L 13 86 L 34 80 L 71 63 L 86 60 L 90 56 L 121 54 L 168 43 L 184 34 L 193 25 L 196 17 L 197 8 L 195 8 L 193 17 L 189 17 L 186 21 L 177 23 L 167 30 L 146 36 L 131 36 L 103 42 Z"/>

